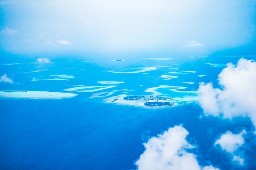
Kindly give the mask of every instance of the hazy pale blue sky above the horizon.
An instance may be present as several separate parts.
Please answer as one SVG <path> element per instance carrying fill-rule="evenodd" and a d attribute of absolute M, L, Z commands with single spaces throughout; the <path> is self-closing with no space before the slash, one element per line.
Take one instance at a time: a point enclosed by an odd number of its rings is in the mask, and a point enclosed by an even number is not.
<path fill-rule="evenodd" d="M 0 46 L 26 55 L 252 51 L 255 11 L 254 0 L 0 0 Z"/>

